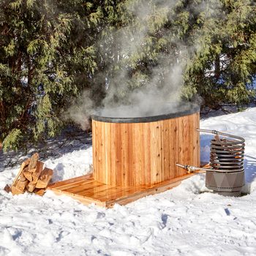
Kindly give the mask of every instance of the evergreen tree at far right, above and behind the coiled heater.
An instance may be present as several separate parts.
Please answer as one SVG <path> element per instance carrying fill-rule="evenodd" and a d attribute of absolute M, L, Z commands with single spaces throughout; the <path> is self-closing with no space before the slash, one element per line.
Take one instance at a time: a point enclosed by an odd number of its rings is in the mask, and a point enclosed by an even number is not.
<path fill-rule="evenodd" d="M 255 99 L 255 1 L 221 0 L 211 4 L 214 15 L 200 15 L 200 48 L 187 69 L 187 91 L 200 94 L 210 108 L 223 103 L 240 106 Z"/>

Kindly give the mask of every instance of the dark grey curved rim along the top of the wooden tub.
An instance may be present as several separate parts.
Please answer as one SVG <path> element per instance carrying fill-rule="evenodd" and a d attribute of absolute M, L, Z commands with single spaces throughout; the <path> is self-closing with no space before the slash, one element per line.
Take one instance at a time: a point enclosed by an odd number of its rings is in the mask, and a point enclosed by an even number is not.
<path fill-rule="evenodd" d="M 181 105 L 182 107 L 182 105 Z M 171 119 L 171 118 L 178 118 L 181 116 L 189 116 L 194 113 L 197 113 L 200 111 L 200 106 L 196 104 L 190 103 L 187 106 L 186 110 L 180 110 L 176 113 L 167 113 L 163 115 L 158 115 L 158 116 L 143 116 L 143 117 L 108 117 L 108 116 L 99 116 L 97 114 L 91 115 L 91 118 L 94 121 L 102 121 L 105 123 L 118 123 L 118 124 L 126 124 L 126 123 L 148 123 L 151 121 L 160 121 L 160 120 L 166 120 L 166 119 Z"/>

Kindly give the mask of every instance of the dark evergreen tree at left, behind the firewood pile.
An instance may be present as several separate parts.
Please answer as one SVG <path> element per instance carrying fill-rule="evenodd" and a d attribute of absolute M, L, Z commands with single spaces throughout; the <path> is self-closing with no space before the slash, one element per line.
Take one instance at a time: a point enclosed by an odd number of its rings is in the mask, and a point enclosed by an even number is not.
<path fill-rule="evenodd" d="M 61 110 L 97 69 L 94 1 L 1 0 L 0 141 L 4 149 L 53 137 Z"/>

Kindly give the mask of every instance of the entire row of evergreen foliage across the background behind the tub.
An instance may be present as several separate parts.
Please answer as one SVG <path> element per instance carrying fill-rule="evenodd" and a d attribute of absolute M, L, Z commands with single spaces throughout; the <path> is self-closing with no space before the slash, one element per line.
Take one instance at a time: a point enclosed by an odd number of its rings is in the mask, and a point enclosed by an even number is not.
<path fill-rule="evenodd" d="M 96 106 L 125 103 L 148 85 L 171 91 L 166 78 L 177 66 L 184 99 L 200 95 L 210 108 L 255 99 L 255 8 L 253 0 L 1 0 L 4 148 L 55 136 L 84 89 Z"/>

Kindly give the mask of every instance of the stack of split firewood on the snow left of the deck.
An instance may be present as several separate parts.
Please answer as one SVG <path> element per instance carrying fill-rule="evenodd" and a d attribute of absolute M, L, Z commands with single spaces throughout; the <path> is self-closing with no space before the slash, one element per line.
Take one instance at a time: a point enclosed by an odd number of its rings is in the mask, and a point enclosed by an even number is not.
<path fill-rule="evenodd" d="M 45 167 L 40 162 L 39 154 L 34 154 L 30 159 L 22 163 L 20 171 L 10 187 L 12 195 L 34 192 L 43 195 L 53 176 L 53 170 Z"/>

